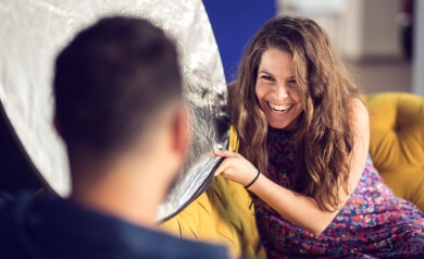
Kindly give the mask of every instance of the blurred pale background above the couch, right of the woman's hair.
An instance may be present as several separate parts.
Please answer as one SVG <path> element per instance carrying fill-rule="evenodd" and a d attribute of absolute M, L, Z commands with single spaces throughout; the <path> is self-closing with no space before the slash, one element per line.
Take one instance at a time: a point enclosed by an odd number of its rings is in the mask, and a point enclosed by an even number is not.
<path fill-rule="evenodd" d="M 279 12 L 314 18 L 364 92 L 424 96 L 424 1 L 277 0 Z"/>

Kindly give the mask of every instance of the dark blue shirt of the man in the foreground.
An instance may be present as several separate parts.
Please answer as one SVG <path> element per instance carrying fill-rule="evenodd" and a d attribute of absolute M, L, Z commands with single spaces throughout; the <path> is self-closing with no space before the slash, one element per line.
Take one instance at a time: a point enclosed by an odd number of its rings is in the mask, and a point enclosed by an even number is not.
<path fill-rule="evenodd" d="M 0 258 L 228 258 L 221 246 L 184 240 L 54 197 L 0 198 Z"/>

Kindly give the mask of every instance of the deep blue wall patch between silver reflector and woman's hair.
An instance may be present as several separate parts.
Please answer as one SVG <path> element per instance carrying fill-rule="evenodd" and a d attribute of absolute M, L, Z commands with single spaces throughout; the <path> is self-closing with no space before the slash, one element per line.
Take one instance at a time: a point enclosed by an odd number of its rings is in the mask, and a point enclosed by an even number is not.
<path fill-rule="evenodd" d="M 229 83 L 238 62 L 255 32 L 276 14 L 273 0 L 203 0 Z"/>

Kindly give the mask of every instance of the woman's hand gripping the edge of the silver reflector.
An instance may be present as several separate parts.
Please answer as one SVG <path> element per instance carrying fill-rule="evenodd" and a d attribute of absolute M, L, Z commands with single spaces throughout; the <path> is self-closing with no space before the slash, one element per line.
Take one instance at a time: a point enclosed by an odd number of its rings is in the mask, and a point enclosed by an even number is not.
<path fill-rule="evenodd" d="M 258 169 L 238 152 L 214 150 L 213 153 L 216 157 L 225 158 L 217 166 L 215 176 L 221 174 L 228 180 L 246 186 L 258 175 Z"/>

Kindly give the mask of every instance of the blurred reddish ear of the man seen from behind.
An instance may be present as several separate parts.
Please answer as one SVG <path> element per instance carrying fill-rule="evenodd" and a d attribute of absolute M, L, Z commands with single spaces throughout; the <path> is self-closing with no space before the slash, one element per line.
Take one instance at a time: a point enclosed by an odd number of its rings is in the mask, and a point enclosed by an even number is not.
<path fill-rule="evenodd" d="M 188 152 L 189 121 L 184 106 L 178 109 L 174 122 L 174 150 L 185 159 Z"/>

